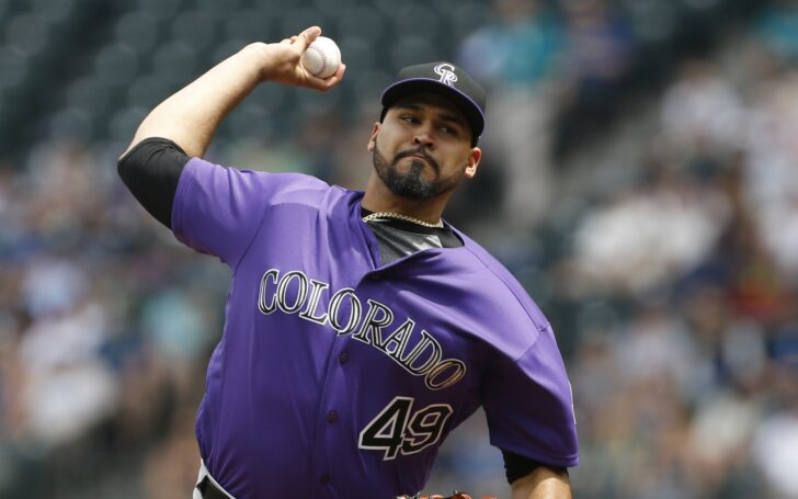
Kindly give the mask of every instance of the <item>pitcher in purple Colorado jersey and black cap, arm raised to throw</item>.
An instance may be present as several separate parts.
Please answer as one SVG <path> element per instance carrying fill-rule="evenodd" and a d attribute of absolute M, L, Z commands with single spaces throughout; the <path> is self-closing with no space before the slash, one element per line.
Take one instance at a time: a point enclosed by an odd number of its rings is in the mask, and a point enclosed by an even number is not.
<path fill-rule="evenodd" d="M 551 327 L 442 218 L 482 155 L 486 97 L 471 77 L 445 61 L 399 71 L 364 131 L 365 192 L 203 159 L 258 84 L 342 80 L 344 65 L 320 79 L 300 64 L 320 33 L 248 45 L 156 106 L 118 161 L 155 218 L 232 270 L 194 497 L 413 496 L 479 407 L 514 499 L 570 497 L 577 432 Z"/>

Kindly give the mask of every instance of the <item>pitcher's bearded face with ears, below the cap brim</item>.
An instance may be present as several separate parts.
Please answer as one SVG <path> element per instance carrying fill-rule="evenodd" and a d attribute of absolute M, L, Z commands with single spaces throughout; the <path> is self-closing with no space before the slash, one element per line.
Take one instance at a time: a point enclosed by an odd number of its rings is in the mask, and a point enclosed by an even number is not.
<path fill-rule="evenodd" d="M 396 195 L 424 201 L 453 191 L 476 173 L 479 148 L 463 113 L 434 93 L 394 104 L 375 125 L 368 148 L 374 169 Z"/>

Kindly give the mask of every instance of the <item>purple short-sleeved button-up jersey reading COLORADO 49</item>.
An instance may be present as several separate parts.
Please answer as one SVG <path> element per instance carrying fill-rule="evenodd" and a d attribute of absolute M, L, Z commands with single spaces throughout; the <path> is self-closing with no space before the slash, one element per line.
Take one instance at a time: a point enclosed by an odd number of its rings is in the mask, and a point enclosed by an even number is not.
<path fill-rule="evenodd" d="M 522 286 L 460 233 L 380 265 L 362 197 L 185 166 L 174 234 L 232 269 L 196 421 L 214 478 L 239 499 L 414 494 L 480 406 L 493 445 L 575 465 L 562 359 Z"/>

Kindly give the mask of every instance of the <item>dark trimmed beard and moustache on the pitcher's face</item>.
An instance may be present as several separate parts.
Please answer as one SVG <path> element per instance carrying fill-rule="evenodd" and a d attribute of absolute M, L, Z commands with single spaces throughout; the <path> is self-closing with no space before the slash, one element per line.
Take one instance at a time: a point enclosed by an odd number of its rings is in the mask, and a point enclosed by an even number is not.
<path fill-rule="evenodd" d="M 435 171 L 435 178 L 432 180 L 425 180 L 423 178 L 424 168 L 428 165 L 419 158 L 411 158 L 410 169 L 406 173 L 400 173 L 397 165 L 401 159 L 409 156 L 422 156 L 425 158 L 429 167 Z M 390 163 L 375 147 L 373 161 L 374 170 L 390 192 L 398 196 L 417 201 L 430 200 L 457 188 L 463 180 L 463 173 L 467 167 L 464 166 L 453 175 L 442 179 L 441 166 L 426 154 L 423 147 L 400 151 L 394 157 Z"/>

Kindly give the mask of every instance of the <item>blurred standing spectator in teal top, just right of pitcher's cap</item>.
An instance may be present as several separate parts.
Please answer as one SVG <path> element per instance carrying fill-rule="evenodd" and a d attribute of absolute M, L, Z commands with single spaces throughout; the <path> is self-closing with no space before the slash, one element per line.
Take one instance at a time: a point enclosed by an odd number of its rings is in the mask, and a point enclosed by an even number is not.
<path fill-rule="evenodd" d="M 500 216 L 523 229 L 538 222 L 551 201 L 551 86 L 565 33 L 543 1 L 493 0 L 491 8 L 491 22 L 465 38 L 457 54 L 490 91 L 480 174 L 500 175 Z"/>

